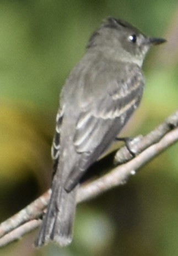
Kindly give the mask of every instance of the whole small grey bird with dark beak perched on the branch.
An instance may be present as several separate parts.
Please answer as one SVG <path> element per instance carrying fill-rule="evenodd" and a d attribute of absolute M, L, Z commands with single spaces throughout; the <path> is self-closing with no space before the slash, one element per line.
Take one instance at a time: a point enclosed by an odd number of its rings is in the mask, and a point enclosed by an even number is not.
<path fill-rule="evenodd" d="M 71 243 L 80 179 L 137 109 L 145 84 L 144 57 L 151 45 L 164 42 L 111 17 L 91 35 L 87 53 L 61 92 L 52 145 L 55 175 L 37 247 L 50 240 Z"/>

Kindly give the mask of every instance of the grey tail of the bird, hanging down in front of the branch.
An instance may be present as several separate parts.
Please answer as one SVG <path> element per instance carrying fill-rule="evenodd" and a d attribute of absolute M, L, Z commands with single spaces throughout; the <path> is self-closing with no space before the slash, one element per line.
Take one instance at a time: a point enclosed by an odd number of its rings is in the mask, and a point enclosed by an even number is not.
<path fill-rule="evenodd" d="M 57 177 L 53 178 L 51 199 L 40 232 L 35 240 L 36 247 L 40 247 L 50 240 L 61 246 L 66 246 L 72 242 L 76 208 L 75 197 L 78 186 L 71 192 L 67 192 L 60 183 Z"/>

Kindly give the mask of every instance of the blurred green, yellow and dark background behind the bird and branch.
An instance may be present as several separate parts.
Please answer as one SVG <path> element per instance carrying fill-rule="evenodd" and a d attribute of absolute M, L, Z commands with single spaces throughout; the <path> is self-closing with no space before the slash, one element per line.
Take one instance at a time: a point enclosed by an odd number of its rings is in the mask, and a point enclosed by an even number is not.
<path fill-rule="evenodd" d="M 144 98 L 125 134 L 146 134 L 177 109 L 177 0 L 0 0 L 1 222 L 50 186 L 58 95 L 107 16 L 168 39 L 144 62 Z M 0 255 L 178 255 L 177 151 L 172 146 L 125 186 L 80 204 L 68 248 L 36 250 L 34 231 Z"/>

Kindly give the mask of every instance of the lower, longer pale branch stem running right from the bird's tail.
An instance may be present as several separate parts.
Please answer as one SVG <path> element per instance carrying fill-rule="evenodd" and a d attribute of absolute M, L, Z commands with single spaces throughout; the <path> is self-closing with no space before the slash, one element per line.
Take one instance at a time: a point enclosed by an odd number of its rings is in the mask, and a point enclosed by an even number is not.
<path fill-rule="evenodd" d="M 157 144 L 148 147 L 148 149 L 144 150 L 131 161 L 114 168 L 110 173 L 98 178 L 96 181 L 80 187 L 78 193 L 79 202 L 87 201 L 110 188 L 125 184 L 129 176 L 136 174 L 138 168 L 145 165 L 145 163 L 152 160 L 176 141 L 178 141 L 178 127 L 166 134 Z"/>

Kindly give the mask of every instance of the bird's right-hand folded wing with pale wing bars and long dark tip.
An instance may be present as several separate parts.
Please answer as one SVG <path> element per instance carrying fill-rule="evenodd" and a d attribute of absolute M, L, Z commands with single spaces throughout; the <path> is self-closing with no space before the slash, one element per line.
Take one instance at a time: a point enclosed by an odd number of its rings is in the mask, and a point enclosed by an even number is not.
<path fill-rule="evenodd" d="M 81 109 L 73 140 L 81 161 L 68 176 L 67 190 L 79 182 L 87 168 L 107 149 L 139 105 L 144 87 L 143 74 L 136 65 L 128 65 L 127 69 L 127 72 L 130 71 L 128 76 L 123 75 L 123 69 L 115 76 L 103 74 L 106 79 L 102 79 L 99 93 L 94 86 L 99 86 L 101 79 L 96 78 L 95 84 L 92 84 L 91 91 L 96 91 L 96 94 L 93 93 L 93 102 Z M 82 103 L 86 98 L 87 95 L 80 97 Z"/>

